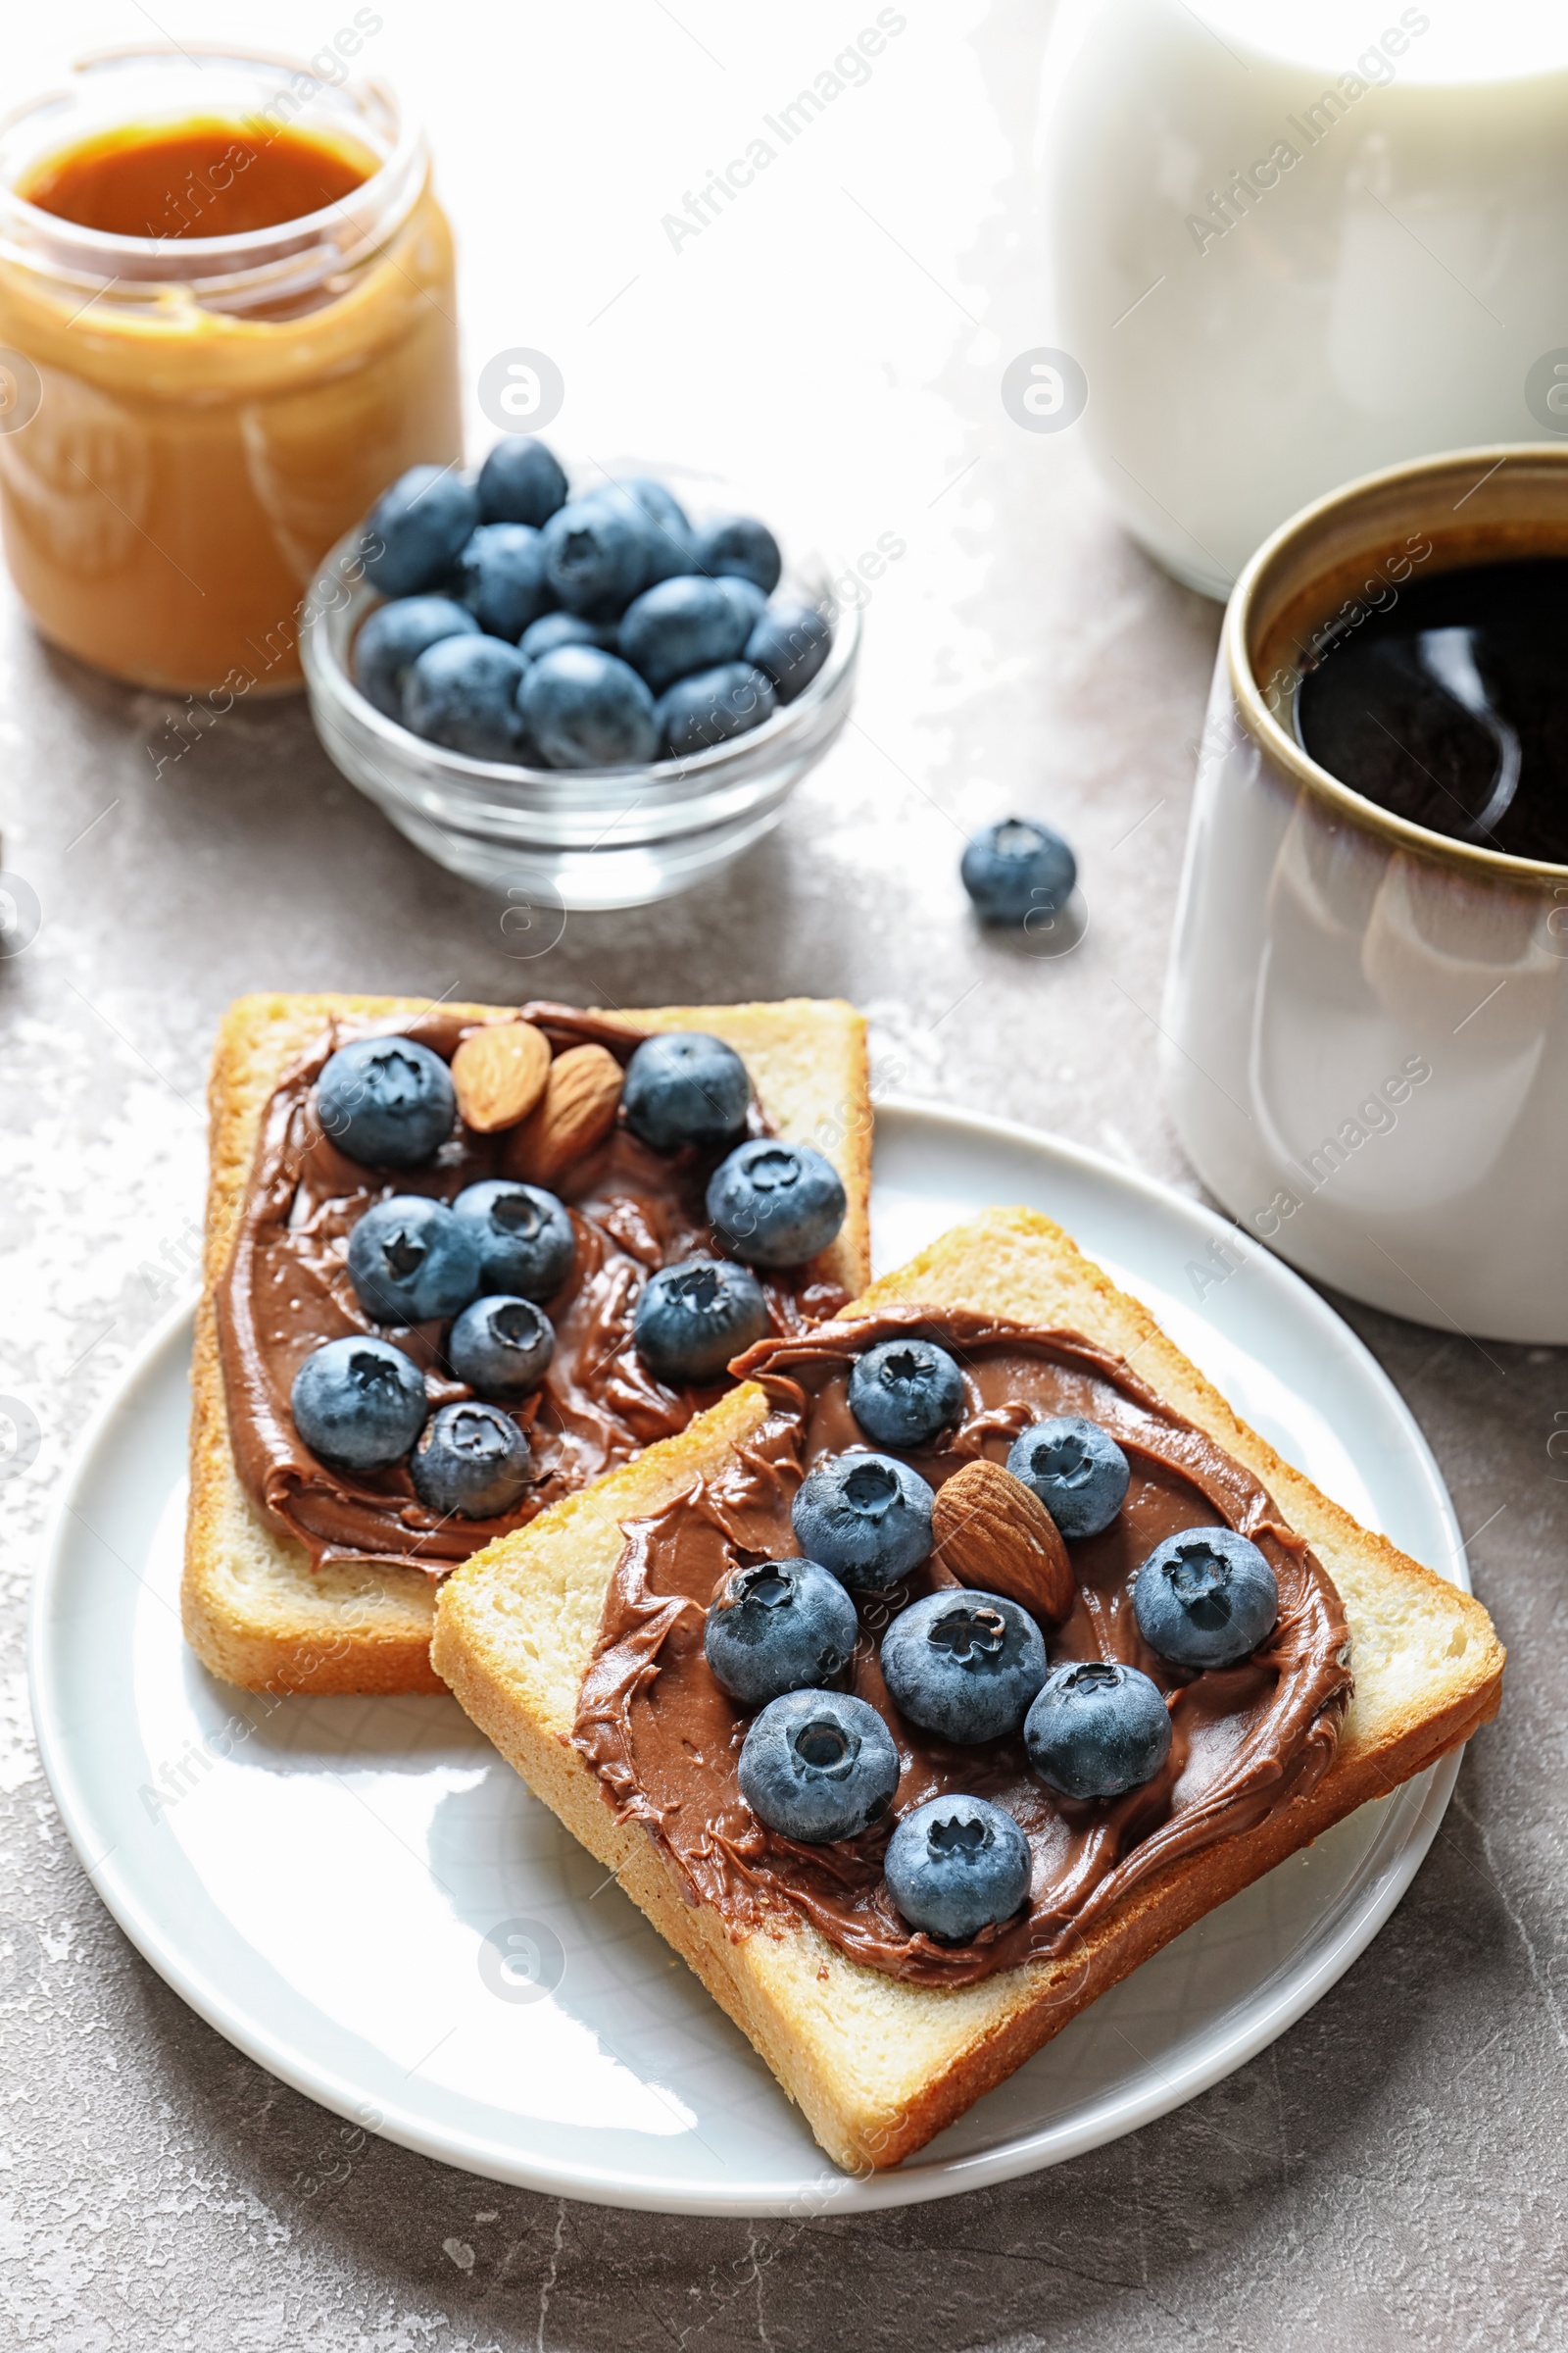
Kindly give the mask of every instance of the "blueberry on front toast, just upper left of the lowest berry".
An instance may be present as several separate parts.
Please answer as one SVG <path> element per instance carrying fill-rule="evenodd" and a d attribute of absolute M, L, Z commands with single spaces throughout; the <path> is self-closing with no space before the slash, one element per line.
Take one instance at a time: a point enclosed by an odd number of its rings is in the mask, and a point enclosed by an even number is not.
<path fill-rule="evenodd" d="M 738 1779 L 769 1831 L 825 1845 L 882 1821 L 898 1788 L 898 1751 L 863 1699 L 785 1692 L 745 1734 Z"/>

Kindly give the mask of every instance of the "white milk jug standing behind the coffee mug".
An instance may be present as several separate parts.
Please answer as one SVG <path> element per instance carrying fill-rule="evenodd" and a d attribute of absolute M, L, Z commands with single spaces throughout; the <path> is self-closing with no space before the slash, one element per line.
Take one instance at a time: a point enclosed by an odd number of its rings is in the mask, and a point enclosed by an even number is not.
<path fill-rule="evenodd" d="M 1039 167 L 1039 341 L 1208 595 L 1335 482 L 1568 435 L 1561 5 L 1063 0 Z"/>

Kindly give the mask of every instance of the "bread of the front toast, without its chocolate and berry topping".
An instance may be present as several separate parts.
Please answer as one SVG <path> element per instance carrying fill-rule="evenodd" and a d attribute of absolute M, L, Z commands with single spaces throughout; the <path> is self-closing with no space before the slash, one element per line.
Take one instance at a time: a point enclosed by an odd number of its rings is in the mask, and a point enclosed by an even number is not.
<path fill-rule="evenodd" d="M 1486 1609 L 1281 1461 L 1046 1217 L 992 1209 L 844 1313 L 891 1304 L 1070 1327 L 1126 1358 L 1246 1464 L 1314 1546 L 1349 1617 L 1356 1692 L 1309 1798 L 1171 1864 L 1063 1958 L 926 1988 L 849 1960 L 806 1922 L 780 1918 L 733 1941 L 715 1908 L 686 1899 L 644 1828 L 616 1824 L 571 1746 L 621 1522 L 724 1466 L 731 1445 L 764 1419 L 755 1384 L 456 1569 L 437 1602 L 435 1666 L 524 1781 L 621 1878 L 773 2068 L 827 2155 L 851 2172 L 898 2165 L 1180 1929 L 1469 1739 L 1495 1713 L 1502 1682 L 1502 1645 Z"/>

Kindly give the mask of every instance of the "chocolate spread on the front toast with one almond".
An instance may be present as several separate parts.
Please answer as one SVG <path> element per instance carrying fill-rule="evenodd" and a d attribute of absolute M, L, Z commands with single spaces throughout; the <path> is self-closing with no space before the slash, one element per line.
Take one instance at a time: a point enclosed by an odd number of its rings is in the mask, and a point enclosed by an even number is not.
<path fill-rule="evenodd" d="M 865 1445 L 846 1402 L 849 1372 L 856 1355 L 896 1334 L 938 1341 L 964 1369 L 961 1424 L 938 1452 L 907 1452 L 933 1487 L 978 1454 L 1004 1461 L 1020 1431 L 1051 1414 L 1084 1414 L 1126 1452 L 1126 1501 L 1103 1534 L 1070 1546 L 1079 1591 L 1067 1621 L 1046 1628 L 1046 1649 L 1053 1666 L 1121 1659 L 1143 1668 L 1175 1694 L 1173 1739 L 1143 1788 L 1072 1800 L 1030 1772 L 1023 1732 L 950 1746 L 910 1725 L 882 1680 L 877 1645 L 889 1619 L 931 1591 L 922 1567 L 886 1593 L 856 1595 L 860 1642 L 849 1689 L 884 1715 L 898 1746 L 893 1807 L 860 1838 L 818 1847 L 766 1831 L 743 1802 L 736 1762 L 750 1715 L 715 1682 L 703 1621 L 731 1567 L 799 1553 L 795 1489 L 818 1457 Z M 762 1927 L 783 1904 L 853 1960 L 922 1986 L 966 1986 L 1027 1960 L 1070 1958 L 1091 1922 L 1166 1864 L 1253 1828 L 1316 1786 L 1352 1689 L 1340 1595 L 1253 1473 L 1121 1358 L 1074 1332 L 903 1308 L 759 1341 L 736 1369 L 762 1384 L 766 1421 L 717 1478 L 628 1525 L 574 1732 L 616 1812 L 646 1824 L 693 1901 L 712 1904 L 736 1934 Z M 1218 1522 L 1265 1553 L 1279 1579 L 1279 1621 L 1239 1666 L 1192 1673 L 1143 1642 L 1131 1579 L 1164 1537 Z M 898 1817 L 945 1791 L 1001 1805 L 1034 1857 L 1027 1911 L 964 1946 L 910 1932 L 882 1878 Z"/>

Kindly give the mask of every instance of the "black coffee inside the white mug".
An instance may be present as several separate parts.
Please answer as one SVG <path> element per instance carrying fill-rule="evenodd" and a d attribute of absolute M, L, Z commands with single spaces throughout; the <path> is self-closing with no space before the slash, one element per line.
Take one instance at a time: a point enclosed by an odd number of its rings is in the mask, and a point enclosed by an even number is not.
<path fill-rule="evenodd" d="M 1568 558 L 1436 572 L 1347 621 L 1300 680 L 1295 734 L 1394 816 L 1568 864 Z"/>

